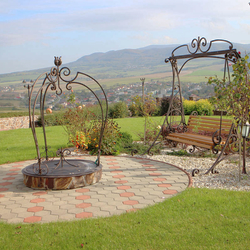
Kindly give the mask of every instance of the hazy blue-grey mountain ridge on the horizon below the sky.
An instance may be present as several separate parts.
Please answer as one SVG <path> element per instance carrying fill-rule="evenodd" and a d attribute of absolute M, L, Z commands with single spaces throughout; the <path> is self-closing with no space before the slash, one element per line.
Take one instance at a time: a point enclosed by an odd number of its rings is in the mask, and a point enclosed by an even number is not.
<path fill-rule="evenodd" d="M 215 50 L 222 49 L 224 43 L 214 44 Z M 228 46 L 228 44 L 226 44 Z M 233 44 L 241 54 L 250 52 L 250 44 Z M 82 56 L 74 62 L 62 64 L 69 67 L 72 73 L 81 71 L 93 75 L 93 77 L 109 79 L 114 77 L 127 77 L 154 72 L 170 71 L 165 67 L 165 59 L 171 56 L 172 51 L 180 45 L 149 45 L 138 49 L 110 50 L 107 52 L 95 52 Z M 63 58 L 62 58 L 63 59 Z M 19 80 L 36 79 L 36 77 L 48 72 L 50 67 L 28 71 L 19 71 L 8 74 L 0 74 L 0 84 Z M 36 76 L 36 77 L 35 77 Z"/>

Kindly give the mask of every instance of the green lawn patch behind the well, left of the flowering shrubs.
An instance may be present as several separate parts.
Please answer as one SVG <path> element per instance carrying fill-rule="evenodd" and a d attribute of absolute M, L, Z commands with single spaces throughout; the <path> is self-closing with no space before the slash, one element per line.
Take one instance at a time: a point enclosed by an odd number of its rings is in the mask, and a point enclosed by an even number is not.
<path fill-rule="evenodd" d="M 68 136 L 63 127 L 46 127 L 49 151 L 56 152 L 66 147 Z M 39 144 L 44 143 L 42 128 L 37 128 Z M 40 153 L 44 151 L 40 144 Z M 35 142 L 31 129 L 0 131 L 0 164 L 35 159 L 37 157 Z"/>

